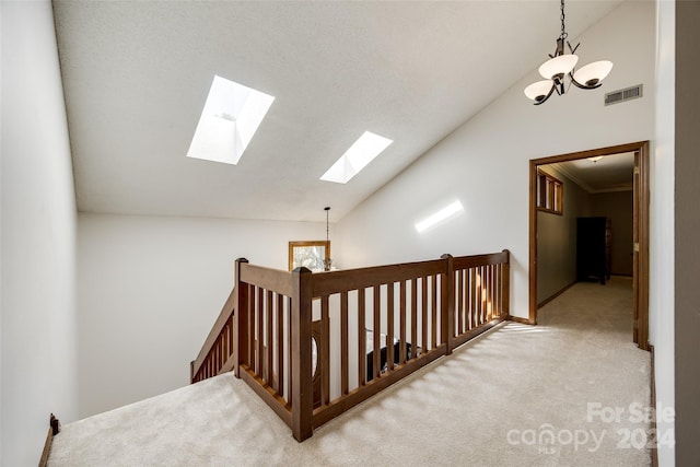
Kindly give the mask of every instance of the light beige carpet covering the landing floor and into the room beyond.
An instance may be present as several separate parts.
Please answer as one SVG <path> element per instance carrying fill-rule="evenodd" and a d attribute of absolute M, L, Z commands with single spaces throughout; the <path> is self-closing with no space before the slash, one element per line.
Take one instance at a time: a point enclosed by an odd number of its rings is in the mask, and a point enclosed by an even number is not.
<path fill-rule="evenodd" d="M 650 465 L 649 425 L 630 410 L 650 401 L 631 282 L 579 283 L 539 318 L 498 327 L 304 443 L 228 374 L 67 424 L 49 465 Z"/>

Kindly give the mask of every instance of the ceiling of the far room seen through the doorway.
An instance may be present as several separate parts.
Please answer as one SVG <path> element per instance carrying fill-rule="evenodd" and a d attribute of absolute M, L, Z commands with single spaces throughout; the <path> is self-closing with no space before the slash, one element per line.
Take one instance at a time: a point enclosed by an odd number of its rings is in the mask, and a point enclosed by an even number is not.
<path fill-rule="evenodd" d="M 588 192 L 627 191 L 634 178 L 634 153 L 606 155 L 599 161 L 587 159 L 550 164 Z"/>

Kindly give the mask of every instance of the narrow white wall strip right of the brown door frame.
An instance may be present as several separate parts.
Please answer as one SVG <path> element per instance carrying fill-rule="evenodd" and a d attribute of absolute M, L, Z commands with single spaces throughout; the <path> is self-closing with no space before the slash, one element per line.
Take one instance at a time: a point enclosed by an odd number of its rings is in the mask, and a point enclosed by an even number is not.
<path fill-rule="evenodd" d="M 675 4 L 656 3 L 656 135 L 651 154 L 650 342 L 654 346 L 656 405 L 675 407 L 674 395 L 674 131 Z M 675 423 L 656 421 L 658 439 L 673 436 Z M 661 466 L 673 466 L 672 446 L 658 446 Z"/>

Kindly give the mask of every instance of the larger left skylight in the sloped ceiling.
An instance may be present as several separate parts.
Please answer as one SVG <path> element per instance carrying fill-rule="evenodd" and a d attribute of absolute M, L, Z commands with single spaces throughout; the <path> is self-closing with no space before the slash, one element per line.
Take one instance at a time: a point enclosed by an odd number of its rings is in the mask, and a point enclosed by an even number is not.
<path fill-rule="evenodd" d="M 275 97 L 214 75 L 188 157 L 236 164 Z"/>

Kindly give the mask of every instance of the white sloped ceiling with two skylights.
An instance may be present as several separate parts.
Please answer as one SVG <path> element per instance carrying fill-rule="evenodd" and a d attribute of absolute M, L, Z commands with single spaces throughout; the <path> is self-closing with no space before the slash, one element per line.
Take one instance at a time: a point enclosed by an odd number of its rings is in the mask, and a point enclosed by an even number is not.
<path fill-rule="evenodd" d="M 568 2 L 570 37 L 619 3 Z M 560 28 L 557 0 L 54 9 L 79 210 L 155 215 L 338 220 L 535 81 Z M 185 155 L 214 74 L 276 96 L 235 166 Z M 394 143 L 347 185 L 319 180 L 365 130 Z"/>

